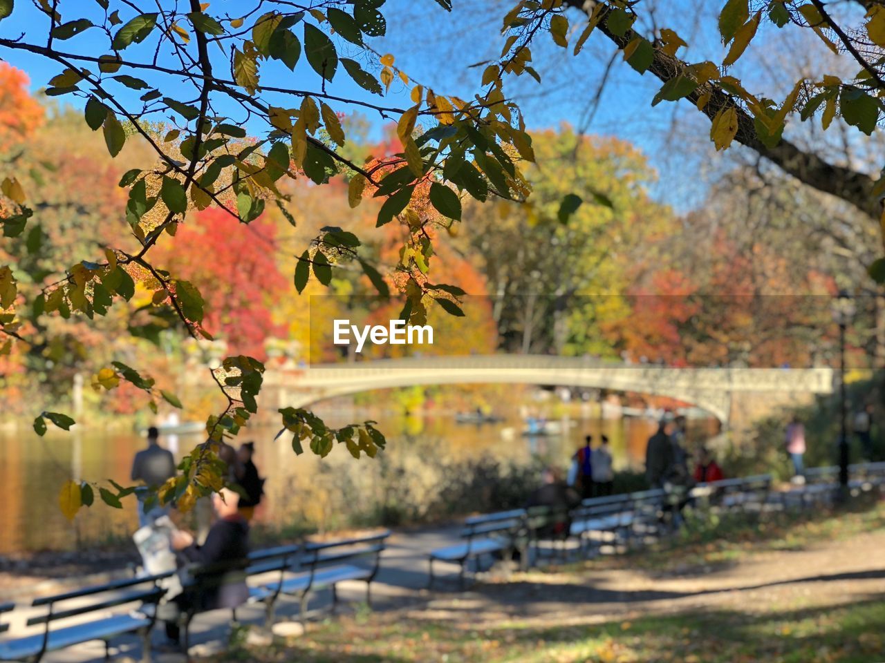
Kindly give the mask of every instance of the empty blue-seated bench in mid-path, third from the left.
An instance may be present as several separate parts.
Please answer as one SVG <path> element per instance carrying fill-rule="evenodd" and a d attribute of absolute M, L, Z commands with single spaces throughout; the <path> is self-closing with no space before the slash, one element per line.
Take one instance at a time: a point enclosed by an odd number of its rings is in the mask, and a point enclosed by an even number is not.
<path fill-rule="evenodd" d="M 477 566 L 483 555 L 512 552 L 517 547 L 516 538 L 525 530 L 525 509 L 498 511 L 494 514 L 474 515 L 467 518 L 461 529 L 464 543 L 436 548 L 429 554 L 430 580 L 428 589 L 434 584 L 434 562 L 447 561 L 460 565 L 458 583 L 464 586 L 464 575 L 469 560 L 476 560 Z M 525 557 L 525 555 L 523 555 Z"/>

